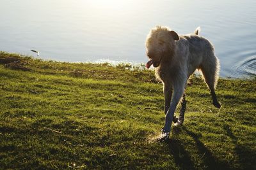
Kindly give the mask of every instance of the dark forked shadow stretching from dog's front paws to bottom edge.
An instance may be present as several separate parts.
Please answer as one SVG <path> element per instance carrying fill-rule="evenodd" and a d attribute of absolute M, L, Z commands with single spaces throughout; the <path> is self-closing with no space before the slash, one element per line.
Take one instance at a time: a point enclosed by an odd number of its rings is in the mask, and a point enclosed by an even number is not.
<path fill-rule="evenodd" d="M 173 129 L 173 136 L 178 138 L 171 138 L 166 141 L 170 154 L 173 155 L 175 164 L 180 169 L 197 169 L 198 167 L 191 160 L 191 153 L 184 148 L 184 144 L 179 140 L 179 131 L 186 132 L 194 139 L 195 147 L 198 150 L 196 154 L 202 155 L 204 169 L 231 169 L 228 164 L 221 162 L 212 155 L 212 152 L 200 141 L 198 135 L 184 126 Z"/>

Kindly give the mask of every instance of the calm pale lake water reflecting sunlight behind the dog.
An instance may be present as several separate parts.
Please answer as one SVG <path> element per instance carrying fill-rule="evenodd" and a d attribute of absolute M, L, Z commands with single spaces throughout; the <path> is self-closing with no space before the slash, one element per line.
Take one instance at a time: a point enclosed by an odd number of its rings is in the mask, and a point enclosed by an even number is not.
<path fill-rule="evenodd" d="M 146 63 L 156 25 L 212 41 L 223 77 L 256 74 L 256 1 L 1 0 L 0 50 L 67 62 Z"/>

